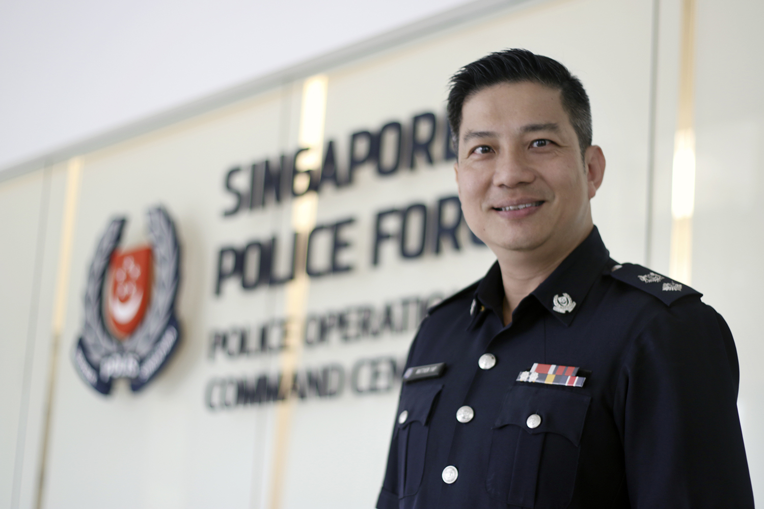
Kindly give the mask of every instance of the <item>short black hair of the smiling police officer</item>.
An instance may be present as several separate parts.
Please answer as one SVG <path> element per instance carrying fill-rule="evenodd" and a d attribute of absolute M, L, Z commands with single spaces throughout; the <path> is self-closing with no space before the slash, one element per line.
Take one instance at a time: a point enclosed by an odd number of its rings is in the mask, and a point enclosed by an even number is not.
<path fill-rule="evenodd" d="M 461 107 L 474 93 L 497 83 L 533 82 L 559 90 L 562 108 L 578 137 L 581 156 L 591 146 L 591 107 L 584 85 L 568 68 L 549 56 L 528 50 L 503 50 L 462 67 L 452 76 L 448 92 L 448 124 L 458 147 Z"/>

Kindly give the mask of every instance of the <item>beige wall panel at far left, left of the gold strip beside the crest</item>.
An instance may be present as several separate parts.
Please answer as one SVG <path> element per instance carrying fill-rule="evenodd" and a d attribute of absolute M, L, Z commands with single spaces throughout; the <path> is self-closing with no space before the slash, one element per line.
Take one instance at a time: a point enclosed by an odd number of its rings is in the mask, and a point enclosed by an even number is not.
<path fill-rule="evenodd" d="M 8 377 L 4 383 L 10 388 L 3 393 L 7 400 L 0 419 L 4 448 L 0 507 L 34 504 L 65 185 L 65 165 L 0 183 L 0 338 L 5 349 L 0 373 Z"/>

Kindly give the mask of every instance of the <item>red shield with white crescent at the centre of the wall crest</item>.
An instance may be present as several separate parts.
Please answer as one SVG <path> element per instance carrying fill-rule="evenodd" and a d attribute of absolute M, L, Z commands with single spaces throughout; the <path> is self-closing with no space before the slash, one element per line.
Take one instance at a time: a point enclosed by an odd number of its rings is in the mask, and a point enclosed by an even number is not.
<path fill-rule="evenodd" d="M 151 297 L 151 247 L 115 250 L 108 272 L 106 323 L 124 340 L 143 320 Z"/>

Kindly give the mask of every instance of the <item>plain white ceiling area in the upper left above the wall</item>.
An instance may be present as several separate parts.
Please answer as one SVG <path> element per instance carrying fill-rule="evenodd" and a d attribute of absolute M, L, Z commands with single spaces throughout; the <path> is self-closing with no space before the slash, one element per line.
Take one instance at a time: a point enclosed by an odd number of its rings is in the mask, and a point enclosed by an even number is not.
<path fill-rule="evenodd" d="M 465 0 L 0 0 L 0 169 Z"/>

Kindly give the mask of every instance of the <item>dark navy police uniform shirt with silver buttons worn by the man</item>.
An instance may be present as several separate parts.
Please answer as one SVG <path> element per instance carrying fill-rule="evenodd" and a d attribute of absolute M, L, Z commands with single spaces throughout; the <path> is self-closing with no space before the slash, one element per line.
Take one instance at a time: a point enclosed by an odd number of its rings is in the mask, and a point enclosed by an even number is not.
<path fill-rule="evenodd" d="M 735 345 L 700 297 L 595 227 L 505 327 L 494 264 L 419 328 L 406 368 L 445 369 L 403 383 L 377 507 L 753 507 Z M 519 381 L 535 364 L 585 381 Z"/>

